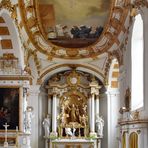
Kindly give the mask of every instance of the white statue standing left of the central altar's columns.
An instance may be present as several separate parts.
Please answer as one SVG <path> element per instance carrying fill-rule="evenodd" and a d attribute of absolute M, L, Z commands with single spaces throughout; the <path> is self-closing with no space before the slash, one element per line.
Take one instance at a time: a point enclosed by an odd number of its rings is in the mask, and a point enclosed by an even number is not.
<path fill-rule="evenodd" d="M 47 117 L 43 120 L 43 127 L 45 130 L 45 137 L 48 137 L 50 134 L 50 116 L 47 114 Z"/>

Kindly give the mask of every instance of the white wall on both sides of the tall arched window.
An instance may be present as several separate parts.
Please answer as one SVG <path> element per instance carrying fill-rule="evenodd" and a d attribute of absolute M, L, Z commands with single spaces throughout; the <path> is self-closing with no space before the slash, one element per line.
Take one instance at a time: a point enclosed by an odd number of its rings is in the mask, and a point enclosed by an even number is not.
<path fill-rule="evenodd" d="M 142 8 L 140 13 L 143 18 L 144 24 L 144 108 L 141 110 L 141 117 L 148 118 L 148 9 Z M 134 18 L 133 18 L 134 20 Z M 131 37 L 132 37 L 132 27 L 131 25 L 128 34 L 128 44 L 126 46 L 126 51 L 124 52 L 124 63 L 123 66 L 120 67 L 120 97 L 121 97 L 121 107 L 124 106 L 124 96 L 125 91 L 128 87 L 131 88 Z M 137 77 L 138 79 L 138 77 Z"/>

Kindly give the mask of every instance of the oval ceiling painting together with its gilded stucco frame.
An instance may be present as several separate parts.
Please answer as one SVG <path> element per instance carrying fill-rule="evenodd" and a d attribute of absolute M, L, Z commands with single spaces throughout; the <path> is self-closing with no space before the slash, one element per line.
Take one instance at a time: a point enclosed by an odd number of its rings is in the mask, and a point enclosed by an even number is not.
<path fill-rule="evenodd" d="M 56 58 L 80 59 L 97 56 L 120 43 L 118 35 L 125 32 L 128 14 L 124 5 L 129 0 L 121 5 L 118 1 L 20 0 L 19 7 L 31 44 L 38 51 Z"/>

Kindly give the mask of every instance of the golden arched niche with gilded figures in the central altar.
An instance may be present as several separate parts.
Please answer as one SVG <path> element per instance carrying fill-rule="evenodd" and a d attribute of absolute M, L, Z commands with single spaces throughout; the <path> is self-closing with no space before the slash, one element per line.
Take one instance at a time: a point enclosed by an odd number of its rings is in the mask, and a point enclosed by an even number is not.
<path fill-rule="evenodd" d="M 88 135 L 87 100 L 74 90 L 65 93 L 60 99 L 59 133 L 61 138 L 83 138 Z"/>

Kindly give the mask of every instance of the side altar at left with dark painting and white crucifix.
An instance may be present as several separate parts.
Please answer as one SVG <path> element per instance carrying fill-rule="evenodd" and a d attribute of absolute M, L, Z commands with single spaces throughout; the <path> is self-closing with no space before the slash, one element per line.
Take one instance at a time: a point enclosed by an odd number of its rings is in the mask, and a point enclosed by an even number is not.
<path fill-rule="evenodd" d="M 0 57 L 0 148 L 31 148 L 31 75 L 12 53 Z"/>

